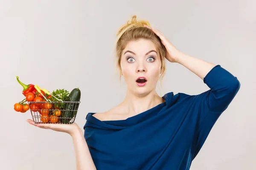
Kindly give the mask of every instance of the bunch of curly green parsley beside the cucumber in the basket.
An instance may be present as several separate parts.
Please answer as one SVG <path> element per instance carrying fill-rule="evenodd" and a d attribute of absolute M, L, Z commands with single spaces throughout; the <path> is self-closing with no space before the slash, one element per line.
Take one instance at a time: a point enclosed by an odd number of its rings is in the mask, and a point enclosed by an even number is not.
<path fill-rule="evenodd" d="M 65 89 L 57 89 L 55 91 L 52 91 L 52 95 L 57 97 L 58 99 L 61 99 L 62 101 L 66 101 L 69 94 L 70 92 Z M 55 99 L 55 97 L 53 96 L 50 98 L 52 102 L 61 102 Z M 55 106 L 61 109 L 61 108 L 64 108 L 64 103 L 56 103 Z"/>

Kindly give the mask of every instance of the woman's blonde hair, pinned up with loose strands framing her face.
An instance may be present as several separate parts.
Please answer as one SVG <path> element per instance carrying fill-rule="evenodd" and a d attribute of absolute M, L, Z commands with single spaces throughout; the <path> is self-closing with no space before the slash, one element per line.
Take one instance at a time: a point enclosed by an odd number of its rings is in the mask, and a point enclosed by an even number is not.
<path fill-rule="evenodd" d="M 161 68 L 160 68 L 160 82 L 162 86 L 162 79 L 166 72 L 166 62 L 165 62 L 165 56 L 166 56 L 166 48 L 162 44 L 160 38 L 154 34 L 154 32 L 151 29 L 148 29 L 144 27 L 143 25 L 150 26 L 150 23 L 147 20 L 137 20 L 137 16 L 133 15 L 131 17 L 131 20 L 127 21 L 127 24 L 124 24 L 119 27 L 117 34 L 116 34 L 116 43 L 115 43 L 115 51 L 116 51 L 116 57 L 115 57 L 115 65 L 117 71 L 119 70 L 119 79 L 121 82 L 121 56 L 122 51 L 125 49 L 125 46 L 128 44 L 128 42 L 138 39 L 145 39 L 145 40 L 151 40 L 157 50 L 157 54 L 160 57 L 161 61 Z"/>

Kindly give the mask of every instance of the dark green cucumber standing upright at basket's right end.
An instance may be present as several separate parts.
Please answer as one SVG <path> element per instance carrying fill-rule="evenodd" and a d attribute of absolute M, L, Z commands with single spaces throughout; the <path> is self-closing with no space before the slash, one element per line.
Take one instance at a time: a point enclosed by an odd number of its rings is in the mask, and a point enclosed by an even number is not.
<path fill-rule="evenodd" d="M 64 111 L 61 113 L 61 122 L 69 123 L 74 116 L 76 116 L 76 110 L 78 109 L 79 103 L 72 102 L 80 102 L 81 91 L 79 88 L 74 88 L 67 97 L 67 103 L 64 105 Z"/>

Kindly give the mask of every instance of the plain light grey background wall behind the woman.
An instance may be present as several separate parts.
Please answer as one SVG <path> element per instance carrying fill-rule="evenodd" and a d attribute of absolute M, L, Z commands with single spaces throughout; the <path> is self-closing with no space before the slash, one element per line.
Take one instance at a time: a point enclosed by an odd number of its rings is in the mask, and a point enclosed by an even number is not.
<path fill-rule="evenodd" d="M 133 14 L 149 20 L 183 53 L 220 64 L 241 88 L 212 128 L 191 170 L 256 169 L 256 3 L 253 0 L 1 0 L 1 170 L 73 170 L 72 138 L 40 129 L 13 110 L 24 97 L 16 76 L 49 91 L 81 89 L 76 123 L 88 112 L 119 104 L 113 45 L 119 26 Z M 188 69 L 167 63 L 160 96 L 199 94 L 209 88 Z"/>

